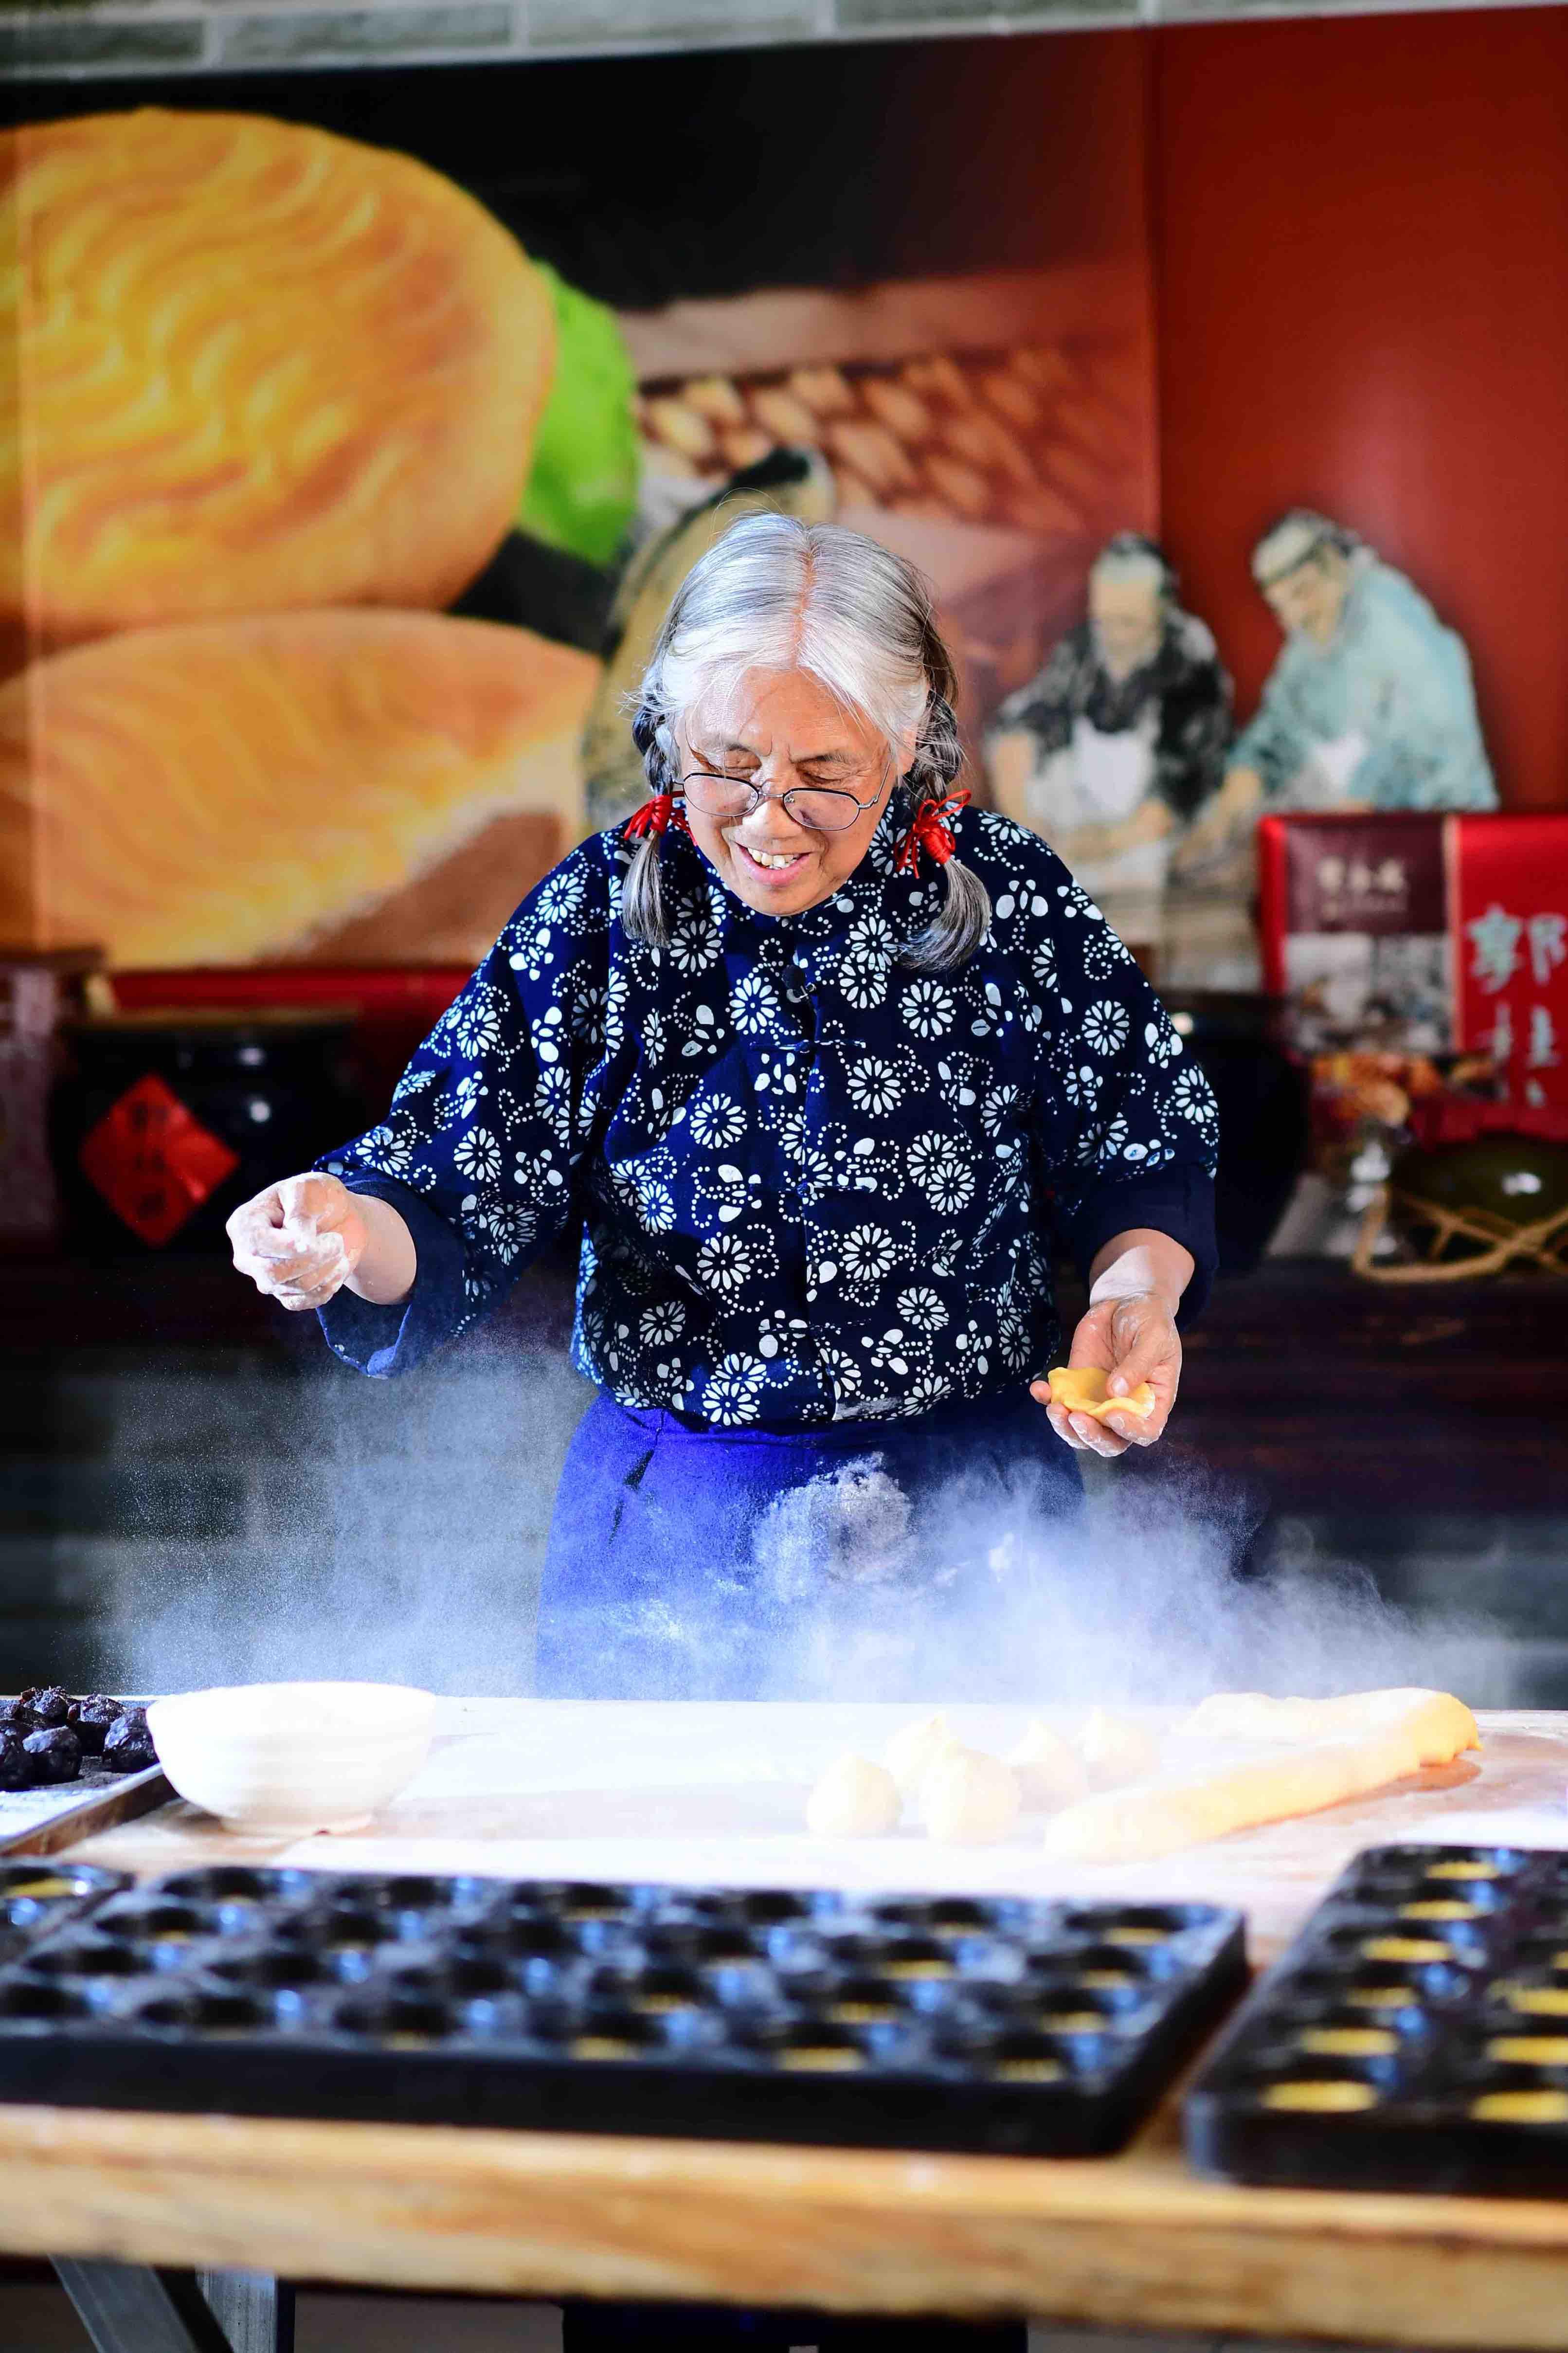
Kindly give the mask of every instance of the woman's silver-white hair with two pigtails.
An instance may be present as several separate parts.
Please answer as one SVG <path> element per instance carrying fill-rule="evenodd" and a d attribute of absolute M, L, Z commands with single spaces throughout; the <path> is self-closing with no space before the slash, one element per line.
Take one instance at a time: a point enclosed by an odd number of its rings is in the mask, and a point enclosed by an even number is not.
<path fill-rule="evenodd" d="M 954 718 L 954 661 L 935 624 L 930 588 L 902 555 L 836 522 L 742 515 L 683 579 L 655 642 L 631 736 L 655 793 L 678 779 L 676 727 L 746 671 L 805 671 L 895 746 L 913 734 L 897 791 L 942 800 L 963 769 Z M 951 856 L 942 906 L 902 962 L 944 972 L 968 962 L 991 901 L 979 875 Z M 664 944 L 659 835 L 643 835 L 622 889 L 633 939 Z"/>

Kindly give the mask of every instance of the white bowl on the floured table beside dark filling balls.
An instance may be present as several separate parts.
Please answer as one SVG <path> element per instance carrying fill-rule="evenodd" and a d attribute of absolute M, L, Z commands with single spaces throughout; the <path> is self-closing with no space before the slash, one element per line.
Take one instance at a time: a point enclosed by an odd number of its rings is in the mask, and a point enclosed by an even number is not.
<path fill-rule="evenodd" d="M 431 1748 L 433 1692 L 400 1682 L 240 1682 L 146 1711 L 181 1798 L 231 1831 L 363 1831 Z"/>

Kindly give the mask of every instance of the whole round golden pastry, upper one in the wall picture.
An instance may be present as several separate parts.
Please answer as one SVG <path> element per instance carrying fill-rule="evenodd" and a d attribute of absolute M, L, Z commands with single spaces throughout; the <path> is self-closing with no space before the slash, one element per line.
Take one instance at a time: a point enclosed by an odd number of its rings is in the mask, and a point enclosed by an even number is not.
<path fill-rule="evenodd" d="M 440 172 L 271 115 L 68 115 L 0 136 L 0 631 L 440 609 L 501 544 L 556 313 Z"/>

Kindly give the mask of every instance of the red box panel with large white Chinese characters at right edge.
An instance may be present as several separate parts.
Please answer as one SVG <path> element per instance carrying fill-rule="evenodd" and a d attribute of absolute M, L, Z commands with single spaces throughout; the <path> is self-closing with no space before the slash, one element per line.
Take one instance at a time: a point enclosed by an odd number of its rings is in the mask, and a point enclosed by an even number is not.
<path fill-rule="evenodd" d="M 1568 816 L 1450 816 L 1455 1045 L 1568 1106 Z"/>

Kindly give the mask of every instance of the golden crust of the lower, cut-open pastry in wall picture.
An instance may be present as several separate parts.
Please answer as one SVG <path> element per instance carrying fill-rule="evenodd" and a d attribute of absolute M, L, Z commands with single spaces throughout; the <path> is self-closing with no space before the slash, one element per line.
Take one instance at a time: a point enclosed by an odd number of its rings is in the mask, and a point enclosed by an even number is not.
<path fill-rule="evenodd" d="M 186 621 L 35 661 L 0 687 L 0 936 L 111 965 L 297 955 L 501 816 L 556 812 L 565 847 L 596 685 L 570 645 L 433 612 Z"/>

